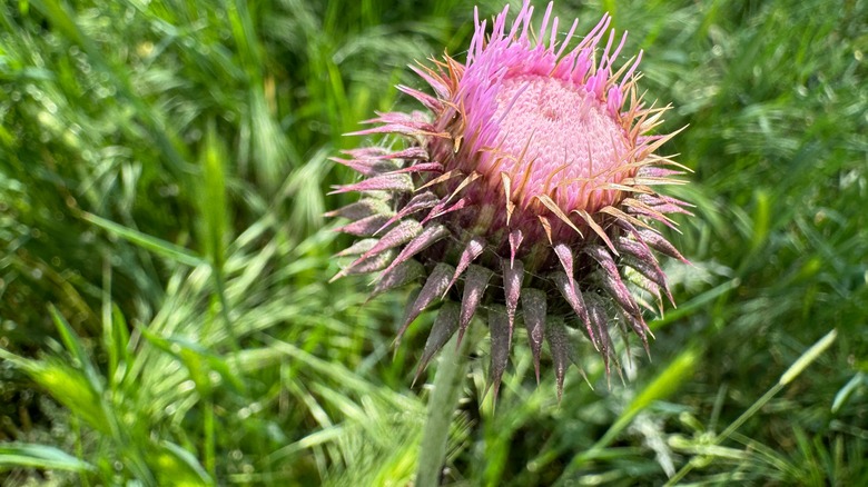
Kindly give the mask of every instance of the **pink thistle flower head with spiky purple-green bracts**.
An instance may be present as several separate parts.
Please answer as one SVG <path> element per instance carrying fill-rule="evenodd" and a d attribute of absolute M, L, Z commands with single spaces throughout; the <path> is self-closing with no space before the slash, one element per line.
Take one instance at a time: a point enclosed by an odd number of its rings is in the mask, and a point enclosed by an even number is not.
<path fill-rule="evenodd" d="M 381 272 L 373 295 L 423 282 L 398 340 L 444 301 L 420 371 L 484 312 L 495 396 L 523 321 L 536 380 L 545 340 L 560 395 L 575 360 L 568 327 L 586 334 L 606 374 L 617 364 L 610 328 L 632 330 L 648 350 L 642 307 L 653 307 L 625 280 L 658 306 L 661 291 L 672 300 L 654 251 L 684 258 L 654 223 L 673 227 L 667 215 L 688 205 L 654 188 L 682 182 L 671 177 L 683 167 L 654 153 L 674 135 L 651 135 L 668 107 L 645 108 L 637 92 L 641 52 L 614 70 L 627 33 L 615 47 L 608 14 L 568 50 L 578 20 L 559 41 L 552 3 L 537 34 L 529 1 L 510 27 L 507 11 L 487 37 L 475 12 L 466 63 L 445 56 L 413 68 L 436 96 L 397 87 L 427 112 L 378 113 L 366 122 L 375 127 L 352 133 L 404 143 L 335 159 L 364 177 L 334 191 L 363 195 L 329 213 L 352 220 L 339 231 L 361 238 L 338 254 L 357 257 L 335 279 Z"/>

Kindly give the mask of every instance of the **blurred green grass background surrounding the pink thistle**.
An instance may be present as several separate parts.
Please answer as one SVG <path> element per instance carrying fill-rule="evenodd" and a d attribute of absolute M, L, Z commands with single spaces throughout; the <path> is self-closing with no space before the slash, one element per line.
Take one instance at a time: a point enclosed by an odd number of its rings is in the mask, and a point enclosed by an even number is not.
<path fill-rule="evenodd" d="M 481 17 L 502 4 L 480 0 Z M 514 4 L 513 7 L 517 7 Z M 537 8 L 544 8 L 543 4 Z M 450 485 L 868 484 L 868 2 L 559 1 L 645 50 L 667 148 L 696 172 L 678 309 L 606 386 L 559 404 L 474 352 Z M 3 485 L 406 485 L 430 318 L 342 279 L 327 158 L 444 48 L 458 0 L 0 4 Z M 581 31 L 581 29 L 580 29 Z M 342 237 L 343 238 L 343 237 Z M 838 339 L 732 435 L 808 347 Z M 431 368 L 428 378 L 433 377 Z M 591 448 L 593 446 L 593 448 Z M 391 483 L 391 484 L 389 484 Z"/>

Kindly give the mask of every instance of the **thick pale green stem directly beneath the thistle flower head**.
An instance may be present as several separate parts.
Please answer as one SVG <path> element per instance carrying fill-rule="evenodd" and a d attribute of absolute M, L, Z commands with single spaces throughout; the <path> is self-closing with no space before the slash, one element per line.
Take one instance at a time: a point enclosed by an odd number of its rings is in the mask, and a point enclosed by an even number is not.
<path fill-rule="evenodd" d="M 440 485 L 440 474 L 446 460 L 446 444 L 452 417 L 455 414 L 467 368 L 467 349 L 473 341 L 473 330 L 470 331 L 464 336 L 461 347 L 455 346 L 456 335 L 454 335 L 441 351 L 434 390 L 428 397 L 428 415 L 422 434 L 416 470 L 417 487 Z"/>

